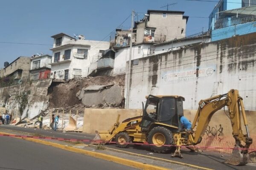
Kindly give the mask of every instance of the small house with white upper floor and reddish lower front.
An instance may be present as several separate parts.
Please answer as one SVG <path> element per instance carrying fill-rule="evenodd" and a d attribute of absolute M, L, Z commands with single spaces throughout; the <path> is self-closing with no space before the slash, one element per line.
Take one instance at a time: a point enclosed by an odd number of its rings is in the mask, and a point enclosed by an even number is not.
<path fill-rule="evenodd" d="M 30 79 L 48 79 L 50 78 L 52 56 L 49 55 L 35 55 L 31 58 Z"/>

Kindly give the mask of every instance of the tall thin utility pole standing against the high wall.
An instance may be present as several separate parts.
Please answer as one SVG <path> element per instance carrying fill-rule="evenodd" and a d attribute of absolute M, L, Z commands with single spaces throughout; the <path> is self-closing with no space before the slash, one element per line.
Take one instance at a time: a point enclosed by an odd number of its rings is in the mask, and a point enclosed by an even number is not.
<path fill-rule="evenodd" d="M 131 79 L 131 52 L 132 52 L 132 37 L 133 37 L 133 23 L 134 23 L 134 11 L 131 12 L 131 39 L 130 39 L 130 54 L 129 54 L 129 67 L 127 73 L 127 91 L 126 91 L 126 107 L 129 105 L 129 94 L 130 94 L 130 79 Z"/>

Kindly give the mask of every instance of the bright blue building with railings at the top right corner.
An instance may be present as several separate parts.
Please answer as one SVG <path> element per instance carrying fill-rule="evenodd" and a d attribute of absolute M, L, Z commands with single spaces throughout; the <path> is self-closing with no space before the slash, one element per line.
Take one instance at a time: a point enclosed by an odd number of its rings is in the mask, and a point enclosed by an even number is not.
<path fill-rule="evenodd" d="M 256 32 L 256 0 L 220 0 L 209 15 L 212 41 Z"/>

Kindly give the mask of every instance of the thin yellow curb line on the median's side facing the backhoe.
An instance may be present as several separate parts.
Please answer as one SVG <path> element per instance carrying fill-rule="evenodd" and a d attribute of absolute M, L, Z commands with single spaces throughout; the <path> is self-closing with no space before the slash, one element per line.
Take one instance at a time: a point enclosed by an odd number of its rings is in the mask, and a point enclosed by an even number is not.
<path fill-rule="evenodd" d="M 96 145 L 93 145 L 93 144 L 88 144 L 88 145 L 91 146 L 91 147 L 96 147 Z M 182 165 L 182 166 L 186 166 L 186 167 L 192 167 L 192 168 L 196 168 L 196 169 L 199 169 L 199 170 L 213 170 L 213 169 L 209 169 L 209 168 L 206 168 L 206 167 L 199 167 L 197 165 L 187 164 L 187 163 L 183 163 L 183 162 L 179 162 L 179 161 L 172 161 L 172 160 L 157 158 L 157 157 L 153 157 L 153 156 L 141 155 L 141 154 L 138 154 L 138 153 L 132 153 L 132 152 L 113 149 L 113 148 L 109 148 L 109 147 L 105 147 L 105 148 L 107 150 L 113 150 L 113 151 L 119 152 L 119 153 L 126 153 L 126 154 L 129 154 L 129 155 L 132 155 L 132 156 L 139 156 L 139 157 L 154 159 L 156 161 L 165 161 L 165 162 L 168 162 L 168 163 L 178 164 L 178 165 Z"/>

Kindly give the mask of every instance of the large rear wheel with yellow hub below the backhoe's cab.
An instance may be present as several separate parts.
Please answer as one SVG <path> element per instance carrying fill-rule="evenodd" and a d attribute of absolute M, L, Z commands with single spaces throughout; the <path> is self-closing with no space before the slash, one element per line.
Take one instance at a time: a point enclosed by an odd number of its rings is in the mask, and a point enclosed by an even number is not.
<path fill-rule="evenodd" d="M 147 142 L 150 145 L 151 150 L 156 153 L 166 153 L 169 150 L 175 150 L 176 147 L 162 146 L 163 144 L 173 144 L 173 136 L 171 130 L 157 126 L 150 130 L 147 137 Z"/>

